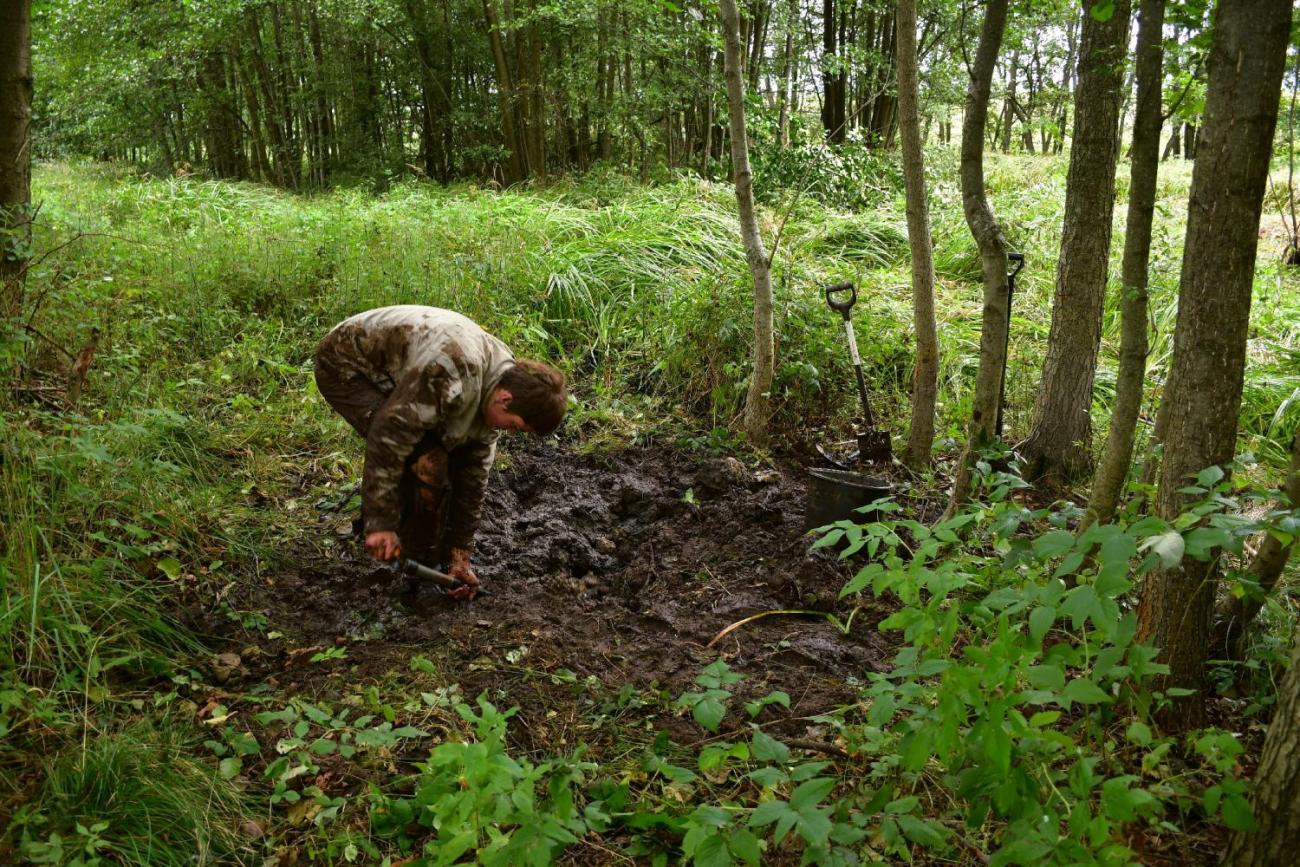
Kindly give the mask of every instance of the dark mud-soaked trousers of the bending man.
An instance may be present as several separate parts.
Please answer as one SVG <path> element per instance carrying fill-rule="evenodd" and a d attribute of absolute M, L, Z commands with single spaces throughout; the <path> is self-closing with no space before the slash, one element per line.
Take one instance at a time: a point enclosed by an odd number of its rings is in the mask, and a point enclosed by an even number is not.
<path fill-rule="evenodd" d="M 360 374 L 339 372 L 328 356 L 316 356 L 316 387 L 325 402 L 363 438 L 370 419 L 389 393 Z M 451 502 L 447 450 L 433 433 L 425 434 L 407 458 L 398 490 L 402 516 L 398 539 L 402 554 L 425 564 L 446 563 L 443 530 Z"/>

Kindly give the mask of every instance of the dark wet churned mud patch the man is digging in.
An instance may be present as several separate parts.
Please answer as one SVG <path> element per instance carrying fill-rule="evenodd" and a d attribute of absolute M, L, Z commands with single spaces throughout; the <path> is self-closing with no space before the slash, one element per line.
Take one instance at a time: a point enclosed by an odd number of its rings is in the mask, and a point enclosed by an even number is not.
<path fill-rule="evenodd" d="M 748 675 L 738 698 L 781 689 L 790 718 L 807 718 L 853 701 L 853 680 L 892 658 L 888 637 L 875 630 L 884 608 L 858 612 L 849 634 L 824 617 L 768 616 L 706 649 L 760 611 L 849 614 L 836 603 L 849 567 L 811 551 L 802 532 L 798 467 L 755 472 L 662 447 L 578 455 L 512 445 L 508 467 L 493 473 L 477 537 L 486 597 L 452 601 L 377 568 L 346 539 L 335 559 L 277 577 L 259 601 L 286 646 L 346 642 L 351 669 L 342 680 L 351 684 L 404 671 L 415 654 L 441 658 L 467 695 L 504 694 L 525 719 L 529 703 L 536 712 L 532 699 L 546 697 L 520 692 L 521 671 L 569 669 L 615 692 L 659 685 L 676 697 L 722 654 Z M 266 663 L 283 663 L 285 647 L 266 650 Z M 322 673 L 282 668 L 277 680 L 329 692 L 329 681 L 311 682 Z M 742 716 L 737 705 L 724 727 Z M 792 719 L 784 728 L 805 725 Z"/>

